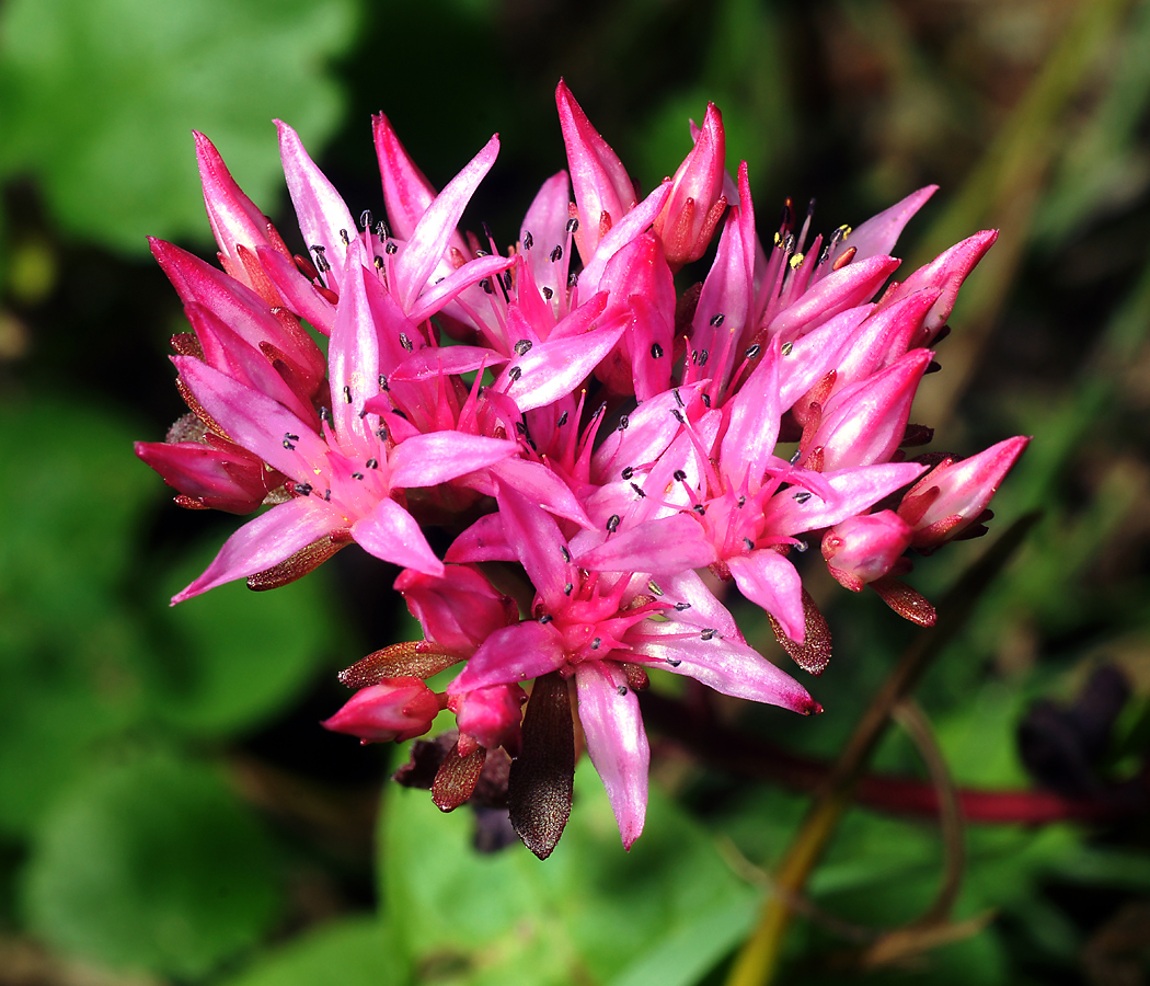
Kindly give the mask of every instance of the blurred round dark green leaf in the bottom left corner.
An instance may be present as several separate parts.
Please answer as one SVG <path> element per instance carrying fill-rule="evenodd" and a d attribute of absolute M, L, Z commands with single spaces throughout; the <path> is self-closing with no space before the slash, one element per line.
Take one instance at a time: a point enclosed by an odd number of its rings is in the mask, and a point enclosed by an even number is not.
<path fill-rule="evenodd" d="M 274 854 L 214 771 L 152 756 L 72 788 L 32 847 L 32 930 L 70 954 L 198 977 L 278 910 Z"/>

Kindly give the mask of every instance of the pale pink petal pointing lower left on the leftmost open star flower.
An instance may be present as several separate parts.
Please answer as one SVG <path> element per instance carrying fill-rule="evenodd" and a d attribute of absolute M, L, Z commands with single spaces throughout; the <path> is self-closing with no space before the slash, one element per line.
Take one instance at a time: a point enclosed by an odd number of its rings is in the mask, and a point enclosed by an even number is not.
<path fill-rule="evenodd" d="M 347 521 L 338 511 L 316 497 L 299 497 L 274 506 L 229 537 L 204 574 L 172 596 L 171 604 L 271 568 L 301 548 L 346 526 Z"/>

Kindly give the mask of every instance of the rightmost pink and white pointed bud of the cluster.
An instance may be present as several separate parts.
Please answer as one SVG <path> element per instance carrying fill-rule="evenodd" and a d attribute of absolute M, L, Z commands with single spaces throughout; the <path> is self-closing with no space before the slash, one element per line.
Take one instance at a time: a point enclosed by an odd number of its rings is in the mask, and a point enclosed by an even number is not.
<path fill-rule="evenodd" d="M 903 497 L 898 515 L 915 548 L 937 548 L 977 522 L 998 484 L 1030 443 L 1023 435 L 991 445 L 969 459 L 943 459 Z"/>

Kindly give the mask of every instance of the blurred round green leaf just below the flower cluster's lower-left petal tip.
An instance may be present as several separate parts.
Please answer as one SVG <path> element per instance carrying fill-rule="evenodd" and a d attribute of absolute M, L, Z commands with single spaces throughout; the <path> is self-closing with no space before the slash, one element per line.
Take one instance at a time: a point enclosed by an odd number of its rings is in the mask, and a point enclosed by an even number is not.
<path fill-rule="evenodd" d="M 232 582 L 167 609 L 217 550 L 213 538 L 155 588 L 166 611 L 151 662 L 154 710 L 201 735 L 258 725 L 299 694 L 334 649 L 322 572 L 267 593 Z"/>

